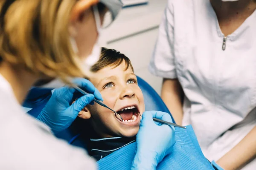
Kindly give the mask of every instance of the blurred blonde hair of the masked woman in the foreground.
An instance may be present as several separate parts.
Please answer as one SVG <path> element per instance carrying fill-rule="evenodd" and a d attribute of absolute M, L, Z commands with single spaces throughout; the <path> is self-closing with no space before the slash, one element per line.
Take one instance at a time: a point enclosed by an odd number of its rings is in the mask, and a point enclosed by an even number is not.
<path fill-rule="evenodd" d="M 64 81 L 83 76 L 68 31 L 76 0 L 10 1 L 0 2 L 0 58 Z"/>

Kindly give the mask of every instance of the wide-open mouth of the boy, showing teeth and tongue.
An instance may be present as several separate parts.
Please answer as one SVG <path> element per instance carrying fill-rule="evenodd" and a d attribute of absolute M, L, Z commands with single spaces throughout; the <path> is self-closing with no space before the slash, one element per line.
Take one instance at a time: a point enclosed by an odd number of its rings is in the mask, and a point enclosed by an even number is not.
<path fill-rule="evenodd" d="M 137 105 L 128 106 L 117 111 L 122 116 L 123 122 L 135 122 L 137 116 L 140 114 Z"/>

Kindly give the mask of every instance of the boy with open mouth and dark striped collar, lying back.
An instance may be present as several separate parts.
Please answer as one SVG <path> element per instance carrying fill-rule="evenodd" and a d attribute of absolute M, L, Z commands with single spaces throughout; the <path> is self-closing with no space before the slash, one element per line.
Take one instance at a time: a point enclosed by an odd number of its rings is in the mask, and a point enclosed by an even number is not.
<path fill-rule="evenodd" d="M 81 119 L 87 120 L 83 123 L 92 127 L 83 130 L 93 129 L 89 135 L 89 154 L 99 160 L 135 141 L 145 105 L 131 61 L 124 54 L 102 48 L 91 71 L 93 74 L 87 78 L 100 91 L 104 103 L 123 119 L 120 121 L 112 111 L 98 104 L 87 105 L 79 113 Z"/>

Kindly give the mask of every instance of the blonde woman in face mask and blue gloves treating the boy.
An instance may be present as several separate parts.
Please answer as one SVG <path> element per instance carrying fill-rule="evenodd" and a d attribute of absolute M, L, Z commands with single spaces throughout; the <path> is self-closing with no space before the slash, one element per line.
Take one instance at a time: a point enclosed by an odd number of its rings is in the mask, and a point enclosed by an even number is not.
<path fill-rule="evenodd" d="M 102 100 L 88 80 L 70 78 L 89 74 L 90 65 L 99 58 L 100 30 L 112 23 L 121 8 L 119 0 L 0 1 L 0 169 L 96 169 L 84 150 L 52 133 L 69 127 L 94 97 Z M 70 106 L 75 89 L 58 88 L 39 121 L 33 119 L 20 106 L 27 92 L 56 78 L 90 94 Z M 152 117 L 171 119 L 168 113 L 154 111 L 143 116 L 135 169 L 155 169 L 175 142 L 174 130 L 157 126 Z"/>

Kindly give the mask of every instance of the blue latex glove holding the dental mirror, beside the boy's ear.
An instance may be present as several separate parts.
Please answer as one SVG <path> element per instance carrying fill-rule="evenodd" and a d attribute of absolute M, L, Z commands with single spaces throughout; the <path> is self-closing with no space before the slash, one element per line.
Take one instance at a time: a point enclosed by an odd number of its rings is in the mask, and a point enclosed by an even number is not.
<path fill-rule="evenodd" d="M 76 89 L 69 86 L 58 88 L 53 92 L 47 105 L 37 117 L 38 120 L 48 125 L 53 133 L 67 129 L 86 105 L 93 105 L 94 97 L 103 101 L 101 94 L 89 80 L 77 78 L 74 79 L 73 83 L 90 94 L 80 97 L 70 105 Z"/>

